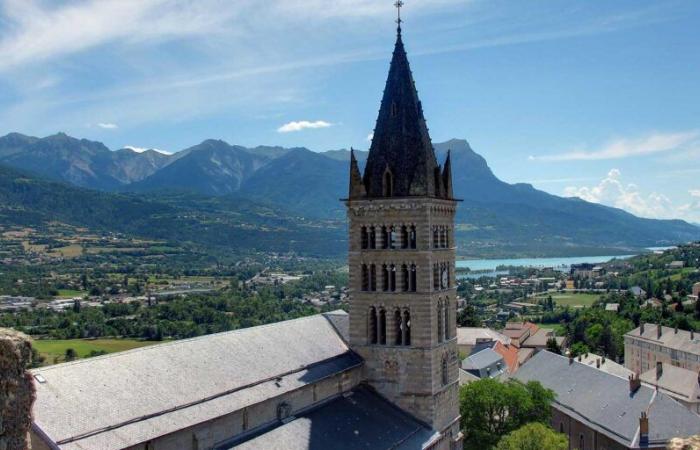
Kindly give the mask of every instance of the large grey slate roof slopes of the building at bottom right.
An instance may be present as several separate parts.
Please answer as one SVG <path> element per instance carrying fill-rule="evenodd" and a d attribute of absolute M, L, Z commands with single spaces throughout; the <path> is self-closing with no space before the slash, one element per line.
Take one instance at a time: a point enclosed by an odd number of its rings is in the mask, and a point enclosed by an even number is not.
<path fill-rule="evenodd" d="M 556 393 L 555 408 L 628 447 L 638 446 L 643 411 L 649 411 L 650 443 L 700 431 L 700 416 L 671 397 L 644 385 L 630 395 L 628 380 L 578 361 L 570 364 L 548 351 L 535 355 L 513 378 L 539 381 Z"/>

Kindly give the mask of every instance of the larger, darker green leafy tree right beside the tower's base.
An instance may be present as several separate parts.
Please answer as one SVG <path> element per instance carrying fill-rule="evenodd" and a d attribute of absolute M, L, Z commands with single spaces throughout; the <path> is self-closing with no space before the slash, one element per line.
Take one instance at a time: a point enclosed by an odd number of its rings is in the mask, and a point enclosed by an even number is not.
<path fill-rule="evenodd" d="M 491 448 L 526 423 L 547 423 L 554 393 L 539 382 L 505 383 L 485 378 L 460 389 L 461 426 L 465 448 Z"/>

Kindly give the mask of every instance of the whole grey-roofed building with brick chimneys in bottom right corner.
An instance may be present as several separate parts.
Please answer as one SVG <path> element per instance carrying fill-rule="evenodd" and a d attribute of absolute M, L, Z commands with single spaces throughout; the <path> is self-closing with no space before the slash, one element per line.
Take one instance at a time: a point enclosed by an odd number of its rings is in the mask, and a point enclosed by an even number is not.
<path fill-rule="evenodd" d="M 539 352 L 514 378 L 554 391 L 551 426 L 567 435 L 571 449 L 661 450 L 700 430 L 700 416 L 668 395 L 574 358 Z"/>

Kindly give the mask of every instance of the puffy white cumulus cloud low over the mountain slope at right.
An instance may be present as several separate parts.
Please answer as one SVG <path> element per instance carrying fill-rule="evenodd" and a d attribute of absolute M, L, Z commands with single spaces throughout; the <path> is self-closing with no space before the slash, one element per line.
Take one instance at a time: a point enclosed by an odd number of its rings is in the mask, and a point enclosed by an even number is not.
<path fill-rule="evenodd" d="M 596 186 L 569 186 L 564 189 L 564 195 L 579 197 L 592 203 L 614 206 L 641 217 L 672 218 L 679 216 L 668 197 L 657 192 L 644 196 L 639 192 L 637 185 L 625 184 L 622 181 L 622 173 L 618 169 L 610 170 L 607 177 Z"/>

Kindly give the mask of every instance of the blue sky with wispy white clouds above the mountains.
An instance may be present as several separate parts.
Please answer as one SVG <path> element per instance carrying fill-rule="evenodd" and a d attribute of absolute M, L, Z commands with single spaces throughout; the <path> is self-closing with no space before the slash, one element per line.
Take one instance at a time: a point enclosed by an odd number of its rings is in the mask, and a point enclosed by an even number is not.
<path fill-rule="evenodd" d="M 368 147 L 391 0 L 0 0 L 0 134 Z M 433 140 L 497 176 L 700 223 L 700 2 L 406 0 Z"/>

